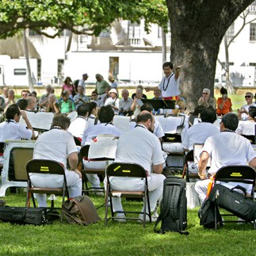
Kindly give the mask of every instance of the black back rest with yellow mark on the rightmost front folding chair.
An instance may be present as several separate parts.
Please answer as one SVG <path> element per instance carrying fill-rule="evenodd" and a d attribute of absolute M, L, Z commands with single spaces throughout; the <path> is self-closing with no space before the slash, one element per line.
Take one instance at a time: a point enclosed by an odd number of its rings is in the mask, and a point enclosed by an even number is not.
<path fill-rule="evenodd" d="M 215 176 L 215 181 L 235 181 L 255 185 L 256 172 L 250 166 L 224 166 Z"/>

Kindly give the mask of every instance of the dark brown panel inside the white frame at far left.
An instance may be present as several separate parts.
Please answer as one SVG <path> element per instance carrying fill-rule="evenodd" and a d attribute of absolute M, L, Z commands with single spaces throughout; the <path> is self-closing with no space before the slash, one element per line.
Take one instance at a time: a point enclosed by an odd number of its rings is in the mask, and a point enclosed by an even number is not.
<path fill-rule="evenodd" d="M 27 181 L 26 164 L 32 159 L 33 148 L 14 147 L 11 154 L 13 154 L 15 180 Z"/>

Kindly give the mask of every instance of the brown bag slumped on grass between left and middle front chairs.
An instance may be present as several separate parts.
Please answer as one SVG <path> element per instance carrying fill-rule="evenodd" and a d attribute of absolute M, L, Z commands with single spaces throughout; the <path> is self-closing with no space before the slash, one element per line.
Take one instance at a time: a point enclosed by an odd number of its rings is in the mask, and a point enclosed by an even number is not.
<path fill-rule="evenodd" d="M 89 225 L 101 220 L 94 203 L 87 196 L 68 199 L 63 203 L 62 209 L 69 224 Z"/>

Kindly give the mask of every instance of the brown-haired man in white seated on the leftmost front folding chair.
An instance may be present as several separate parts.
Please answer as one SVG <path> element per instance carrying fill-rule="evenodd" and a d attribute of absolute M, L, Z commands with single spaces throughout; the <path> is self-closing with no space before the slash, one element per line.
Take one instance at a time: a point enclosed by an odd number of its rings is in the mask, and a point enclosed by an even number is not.
<path fill-rule="evenodd" d="M 81 196 L 82 193 L 82 174 L 77 170 L 78 166 L 78 150 L 75 140 L 67 128 L 71 124 L 71 120 L 63 115 L 57 115 L 52 120 L 52 129 L 44 132 L 38 137 L 35 143 L 33 159 L 48 159 L 61 163 L 65 168 L 67 178 L 67 188 L 70 197 Z M 67 160 L 71 166 L 71 170 L 67 170 Z M 33 185 L 55 187 L 57 179 L 33 174 L 31 181 Z M 46 195 L 36 194 L 39 207 L 46 207 Z"/>

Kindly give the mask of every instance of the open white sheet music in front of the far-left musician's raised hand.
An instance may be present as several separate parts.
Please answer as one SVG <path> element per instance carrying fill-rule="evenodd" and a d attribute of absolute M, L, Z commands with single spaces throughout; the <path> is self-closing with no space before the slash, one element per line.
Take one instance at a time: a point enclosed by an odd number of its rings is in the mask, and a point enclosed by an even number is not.
<path fill-rule="evenodd" d="M 29 118 L 29 122 L 32 125 L 32 128 L 50 130 L 54 113 L 46 113 L 46 112 L 34 113 L 34 112 L 26 111 L 26 114 L 27 114 L 27 117 Z M 19 121 L 19 124 L 22 126 L 27 126 L 22 116 Z"/>

